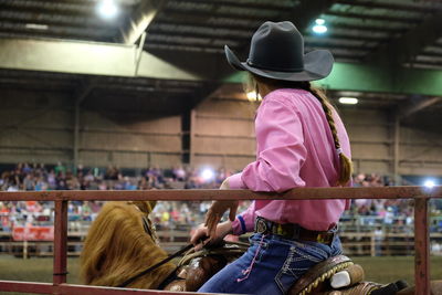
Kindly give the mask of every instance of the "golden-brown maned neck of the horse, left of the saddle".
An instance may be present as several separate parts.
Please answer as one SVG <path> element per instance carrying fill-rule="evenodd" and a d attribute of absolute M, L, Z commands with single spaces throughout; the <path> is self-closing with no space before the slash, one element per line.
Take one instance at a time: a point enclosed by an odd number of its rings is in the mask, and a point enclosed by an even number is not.
<path fill-rule="evenodd" d="M 81 255 L 84 284 L 118 286 L 167 257 L 143 228 L 143 217 L 149 212 L 141 212 L 127 202 L 108 202 L 103 207 L 88 230 Z M 129 287 L 157 288 L 175 267 L 175 264 L 166 263 Z"/>

